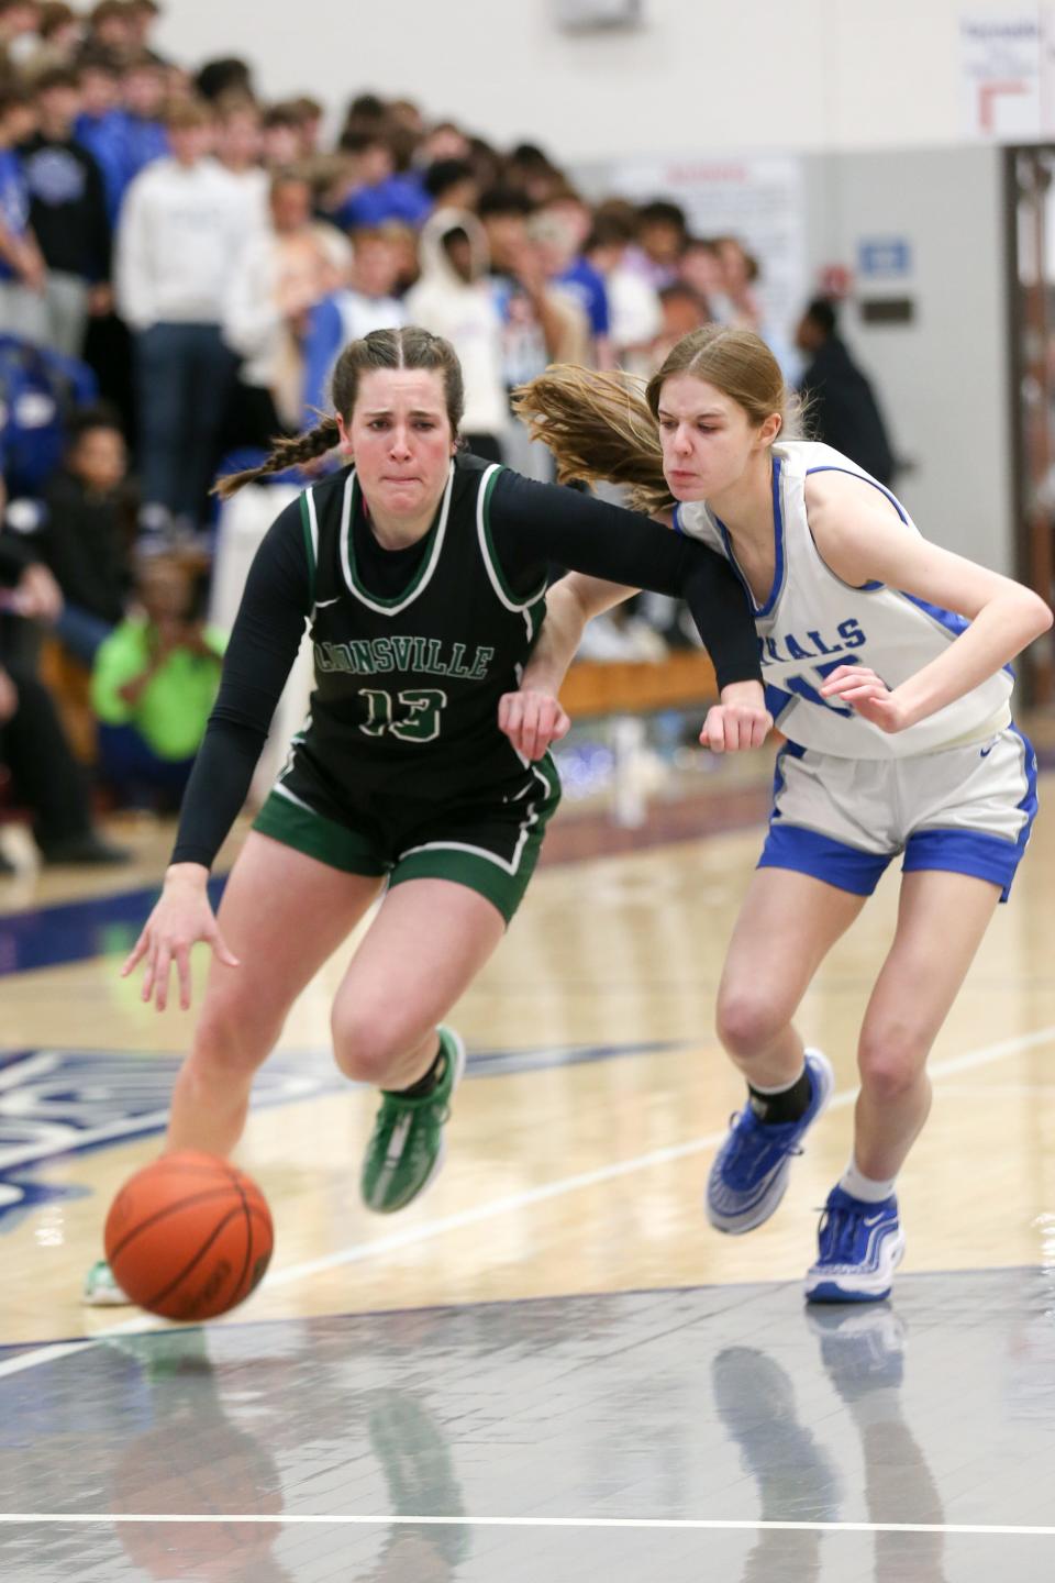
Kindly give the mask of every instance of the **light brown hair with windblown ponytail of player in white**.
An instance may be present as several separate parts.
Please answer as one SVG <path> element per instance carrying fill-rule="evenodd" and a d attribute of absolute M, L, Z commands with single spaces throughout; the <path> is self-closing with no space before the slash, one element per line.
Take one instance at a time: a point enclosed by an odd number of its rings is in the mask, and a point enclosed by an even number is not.
<path fill-rule="evenodd" d="M 724 325 L 683 336 L 649 383 L 631 374 L 555 364 L 514 391 L 514 407 L 531 437 L 554 453 L 562 483 L 626 484 L 633 510 L 655 514 L 674 505 L 663 476 L 658 415 L 663 385 L 675 374 L 715 385 L 753 424 L 780 413 L 786 429 L 792 416 L 800 418 L 766 342 L 750 329 Z"/>

